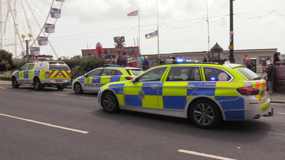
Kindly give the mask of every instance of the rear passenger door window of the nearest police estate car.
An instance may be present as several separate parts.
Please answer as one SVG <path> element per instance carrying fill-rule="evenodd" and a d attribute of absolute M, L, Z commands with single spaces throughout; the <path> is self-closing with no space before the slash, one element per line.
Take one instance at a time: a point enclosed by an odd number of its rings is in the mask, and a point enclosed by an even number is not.
<path fill-rule="evenodd" d="M 166 81 L 201 81 L 199 67 L 171 67 Z"/>

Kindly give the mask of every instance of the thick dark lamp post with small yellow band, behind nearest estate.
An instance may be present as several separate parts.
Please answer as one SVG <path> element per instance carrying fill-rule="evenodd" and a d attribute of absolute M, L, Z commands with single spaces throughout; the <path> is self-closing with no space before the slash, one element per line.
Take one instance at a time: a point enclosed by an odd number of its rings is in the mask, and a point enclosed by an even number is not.
<path fill-rule="evenodd" d="M 233 2 L 234 0 L 230 0 L 230 62 L 235 63 L 234 59 L 234 22 L 233 22 Z"/>

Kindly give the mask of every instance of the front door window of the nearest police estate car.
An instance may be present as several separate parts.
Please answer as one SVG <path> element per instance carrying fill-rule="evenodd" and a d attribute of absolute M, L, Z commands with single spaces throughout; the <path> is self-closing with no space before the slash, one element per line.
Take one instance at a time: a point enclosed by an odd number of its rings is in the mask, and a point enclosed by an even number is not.
<path fill-rule="evenodd" d="M 150 71 L 147 71 L 146 73 L 142 74 L 140 77 L 138 77 L 137 82 L 157 82 L 160 81 L 163 73 L 165 72 L 167 67 L 159 67 L 152 69 Z"/>

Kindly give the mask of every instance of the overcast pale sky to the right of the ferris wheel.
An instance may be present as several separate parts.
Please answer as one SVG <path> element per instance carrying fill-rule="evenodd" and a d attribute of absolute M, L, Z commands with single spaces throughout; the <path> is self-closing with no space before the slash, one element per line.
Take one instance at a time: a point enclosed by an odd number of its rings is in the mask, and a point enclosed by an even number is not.
<path fill-rule="evenodd" d="M 210 48 L 218 42 L 228 50 L 230 1 L 207 0 L 207 3 Z M 285 53 L 284 0 L 236 0 L 233 3 L 235 50 L 278 48 Z M 49 40 L 58 55 L 66 57 L 81 55 L 87 43 L 89 49 L 95 49 L 97 42 L 103 48 L 112 48 L 113 36 L 118 35 L 125 36 L 126 46 L 134 46 L 133 39 L 139 36 L 138 16 L 127 14 L 138 7 L 141 53 L 157 54 L 157 37 L 145 39 L 145 34 L 157 29 L 155 0 L 67 0 Z M 208 51 L 206 15 L 206 0 L 159 0 L 160 54 Z M 41 54 L 55 57 L 49 46 L 42 46 Z"/>

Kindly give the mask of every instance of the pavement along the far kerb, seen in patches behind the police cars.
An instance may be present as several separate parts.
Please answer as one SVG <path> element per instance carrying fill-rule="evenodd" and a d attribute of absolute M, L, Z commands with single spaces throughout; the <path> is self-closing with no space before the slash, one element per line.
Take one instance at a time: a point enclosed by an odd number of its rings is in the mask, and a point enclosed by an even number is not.
<path fill-rule="evenodd" d="M 0 80 L 0 85 L 12 85 L 11 81 Z M 67 89 L 72 89 L 71 84 L 67 86 Z M 285 93 L 273 92 L 269 93 L 271 103 L 284 103 L 285 104 Z"/>

